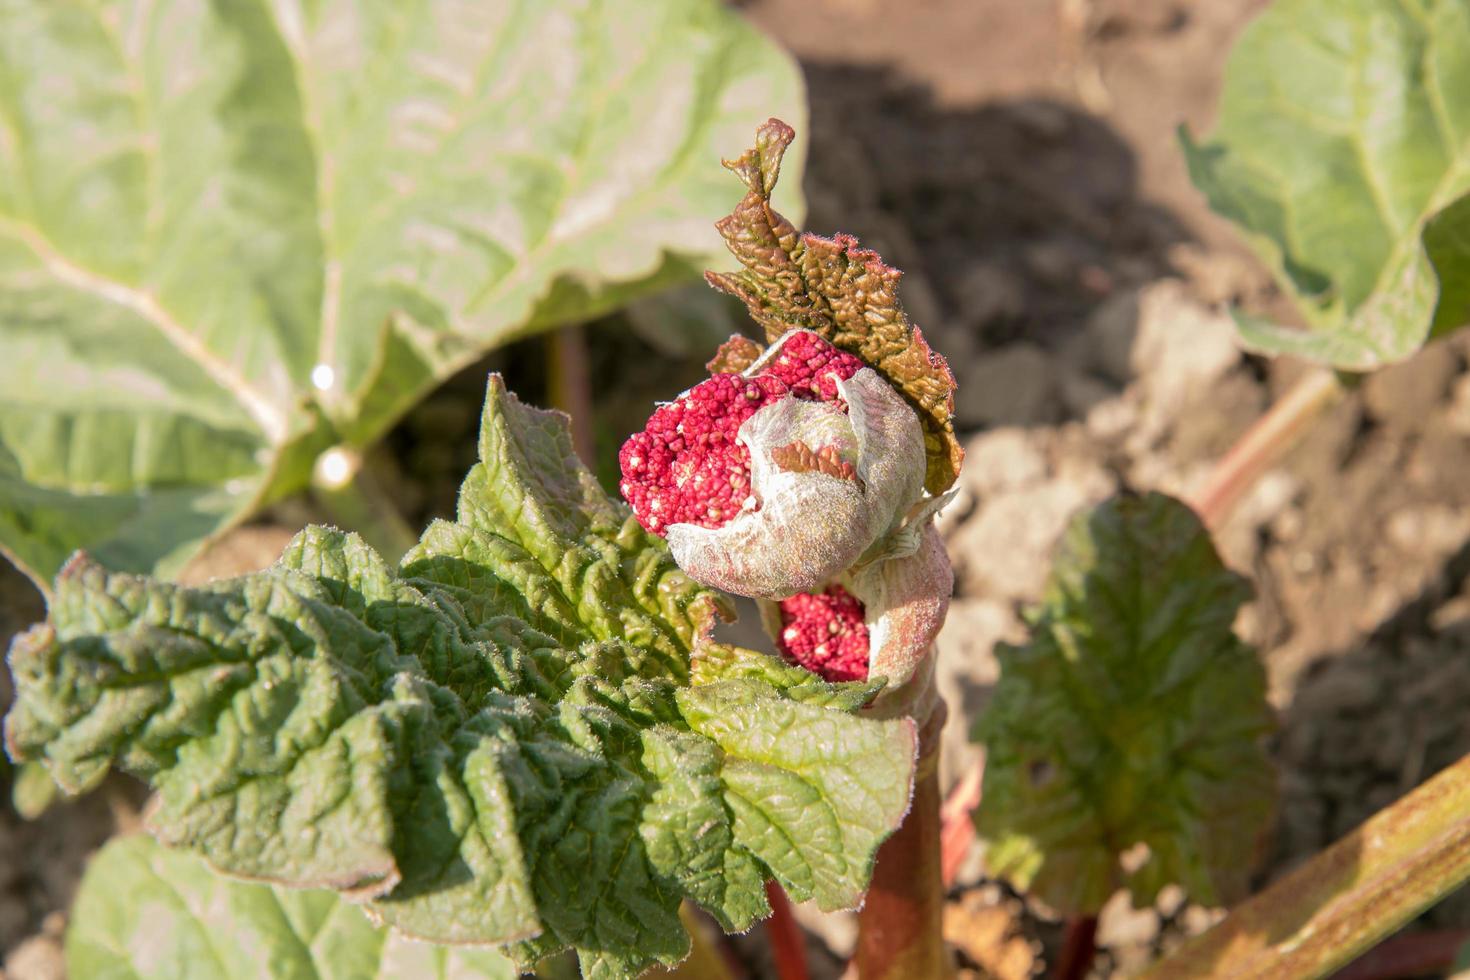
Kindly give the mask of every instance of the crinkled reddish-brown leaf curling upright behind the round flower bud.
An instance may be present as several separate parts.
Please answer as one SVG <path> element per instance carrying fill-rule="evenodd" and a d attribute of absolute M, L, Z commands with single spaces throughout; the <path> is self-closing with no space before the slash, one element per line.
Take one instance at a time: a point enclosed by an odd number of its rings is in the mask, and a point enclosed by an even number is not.
<path fill-rule="evenodd" d="M 748 188 L 735 210 L 716 223 L 731 254 L 744 269 L 707 272 L 716 289 L 738 297 L 773 342 L 804 328 L 861 357 L 919 410 L 923 422 L 931 494 L 948 489 L 964 450 L 954 435 L 954 375 L 925 342 L 898 303 L 903 273 L 851 235 L 823 238 L 798 234 L 770 206 L 781 157 L 795 132 L 770 119 L 756 132 L 756 145 L 725 166 Z"/>

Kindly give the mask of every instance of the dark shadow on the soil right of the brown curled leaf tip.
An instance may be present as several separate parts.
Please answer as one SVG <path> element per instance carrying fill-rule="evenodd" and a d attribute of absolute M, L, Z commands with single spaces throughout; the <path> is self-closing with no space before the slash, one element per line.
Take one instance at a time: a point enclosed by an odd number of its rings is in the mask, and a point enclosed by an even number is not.
<path fill-rule="evenodd" d="M 804 68 L 806 226 L 856 234 L 903 269 L 926 332 L 1054 342 L 1101 298 L 1172 272 L 1169 248 L 1188 241 L 1097 116 L 1050 100 L 947 107 L 885 69 Z"/>

